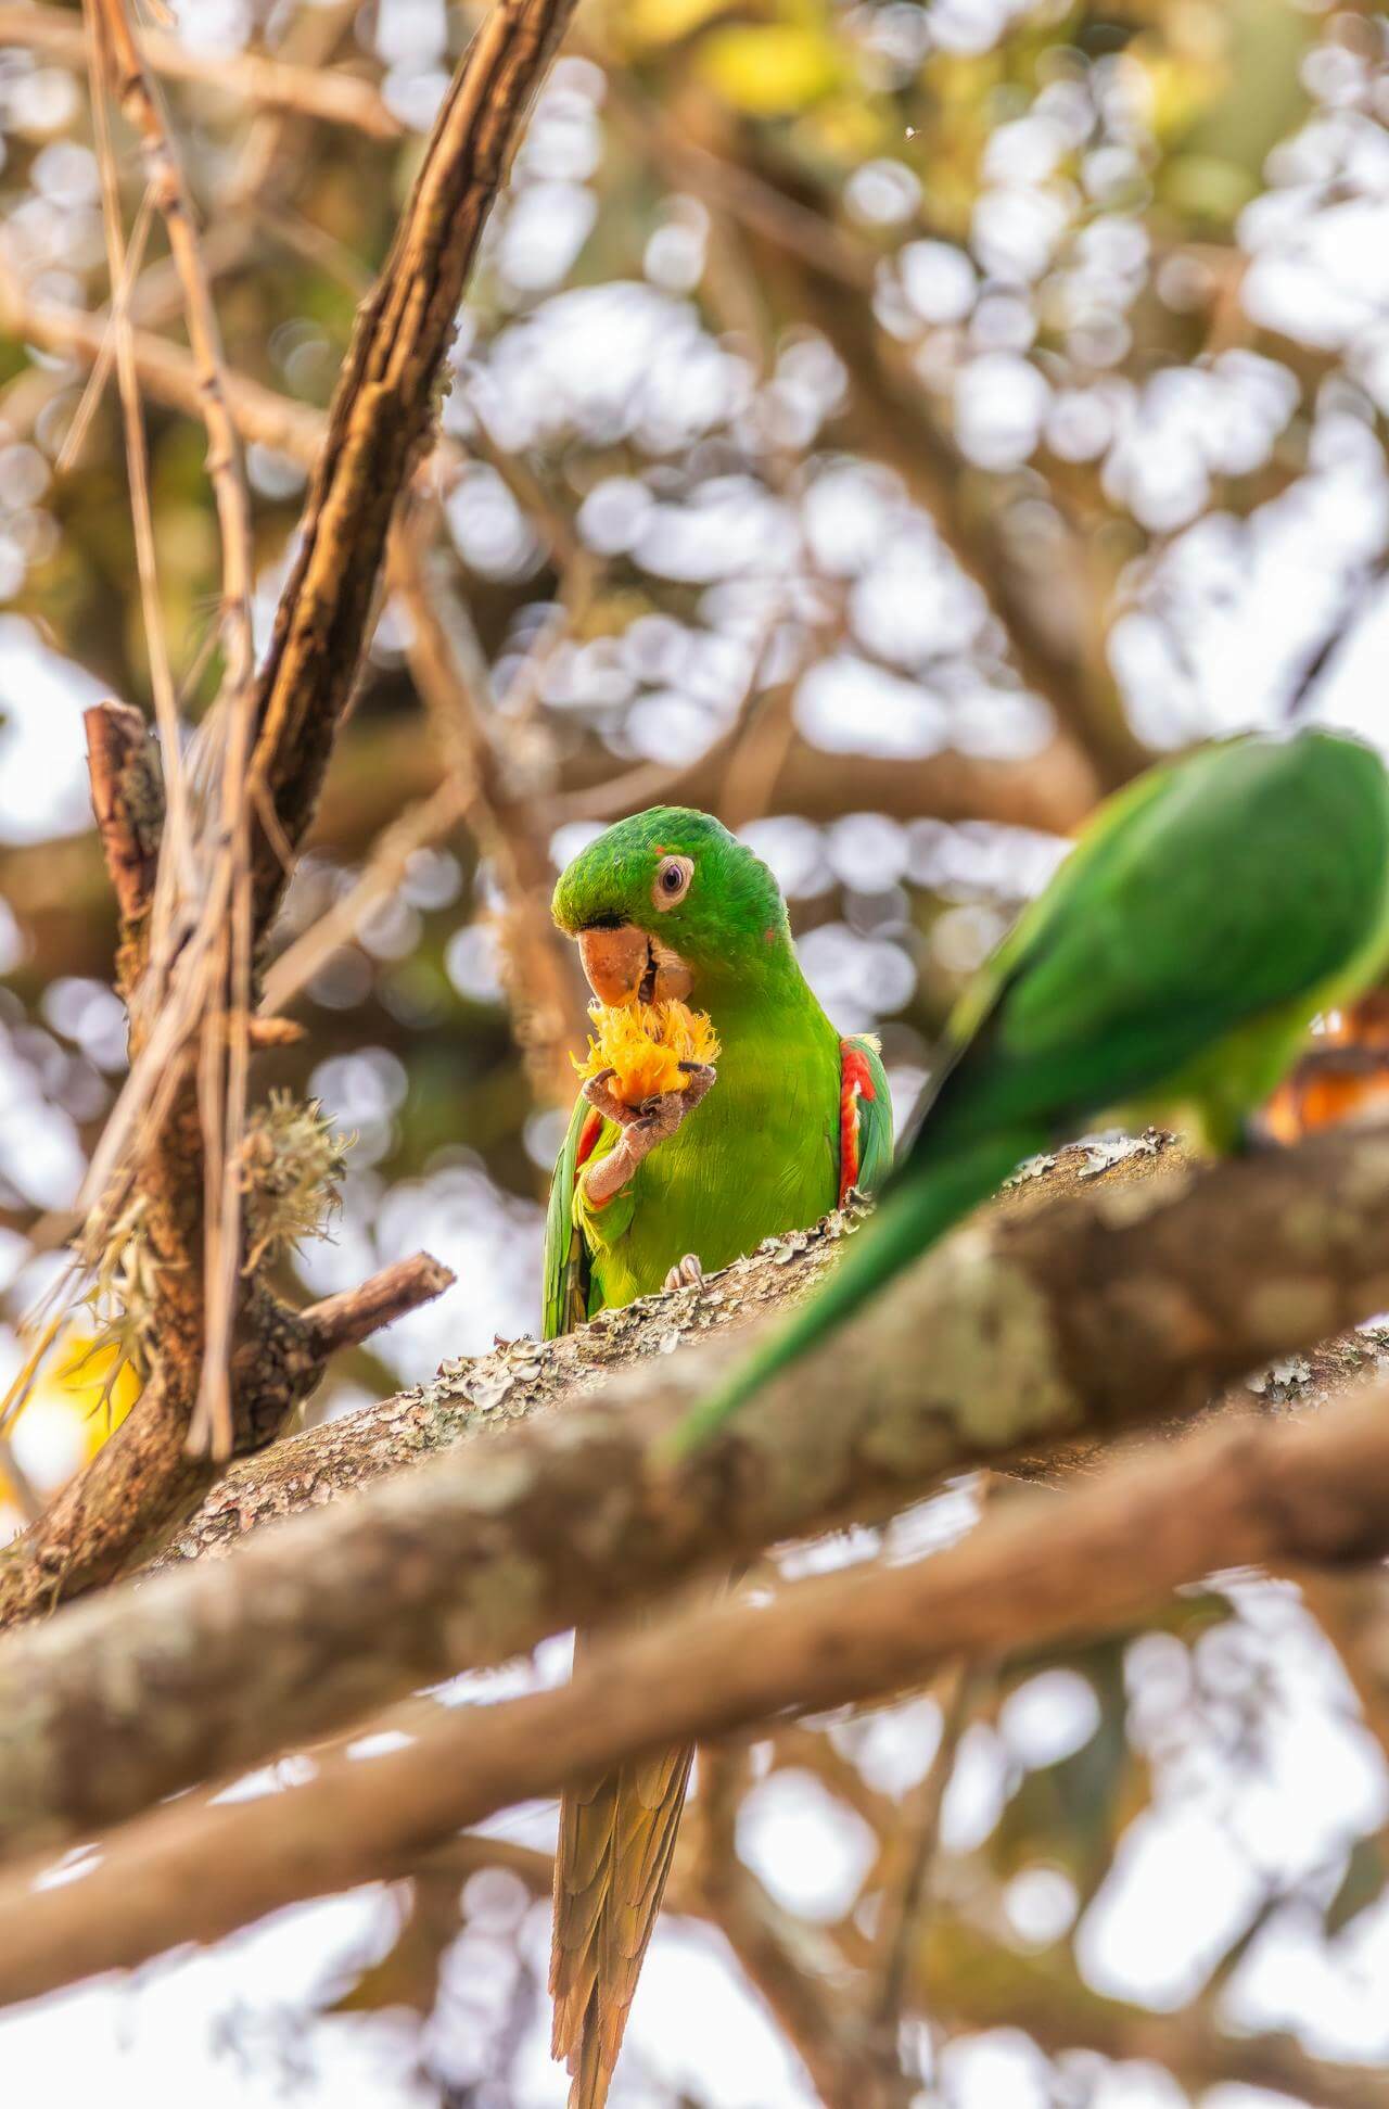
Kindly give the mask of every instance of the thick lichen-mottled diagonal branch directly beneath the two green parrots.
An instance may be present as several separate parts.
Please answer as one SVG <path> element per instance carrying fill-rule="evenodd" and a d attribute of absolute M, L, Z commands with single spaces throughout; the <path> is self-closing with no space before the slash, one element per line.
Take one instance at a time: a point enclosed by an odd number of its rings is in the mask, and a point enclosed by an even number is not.
<path fill-rule="evenodd" d="M 453 1434 L 531 1424 L 293 1518 L 232 1571 L 167 1573 L 15 1634 L 0 1649 L 0 1837 L 13 1850 L 34 1831 L 110 1822 L 546 1632 L 611 1620 L 708 1565 L 883 1514 L 965 1464 L 1206 1405 L 1227 1379 L 1389 1303 L 1389 1130 L 978 1223 L 687 1466 L 658 1470 L 653 1438 L 727 1350 L 662 1358 L 660 1386 L 639 1362 L 596 1390 L 599 1369 L 624 1360 L 624 1343 L 662 1348 L 715 1314 L 784 1303 L 830 1244 L 795 1234 L 681 1291 L 683 1303 L 451 1365 L 375 1409 L 375 1462 L 358 1457 L 358 1476 L 379 1470 L 382 1421 L 396 1459 L 449 1421 Z M 653 1327 L 677 1308 L 681 1329 Z M 535 1411 L 565 1398 L 563 1413 Z M 280 1512 L 331 1493 L 295 1457 L 287 1447 Z"/>

